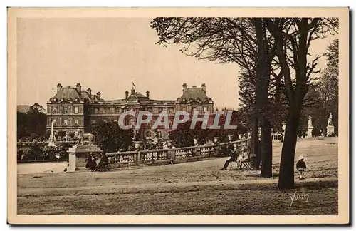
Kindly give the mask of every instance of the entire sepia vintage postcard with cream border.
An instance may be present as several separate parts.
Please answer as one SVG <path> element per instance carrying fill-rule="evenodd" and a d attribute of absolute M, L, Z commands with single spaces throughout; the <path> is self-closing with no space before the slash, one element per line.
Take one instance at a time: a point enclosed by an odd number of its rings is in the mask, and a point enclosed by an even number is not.
<path fill-rule="evenodd" d="M 9 8 L 8 70 L 11 224 L 350 222 L 348 8 Z"/>

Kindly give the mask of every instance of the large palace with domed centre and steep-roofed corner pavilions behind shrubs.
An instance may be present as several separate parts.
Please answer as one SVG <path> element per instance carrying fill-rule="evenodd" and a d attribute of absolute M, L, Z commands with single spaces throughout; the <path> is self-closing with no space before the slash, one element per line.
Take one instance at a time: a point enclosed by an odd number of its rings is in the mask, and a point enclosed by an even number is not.
<path fill-rule="evenodd" d="M 176 111 L 187 111 L 189 114 L 198 112 L 203 115 L 206 111 L 214 112 L 214 102 L 206 96 L 206 85 L 201 84 L 201 88 L 187 84 L 182 85 L 182 95 L 176 100 L 155 100 L 150 98 L 150 91 L 143 95 L 132 88 L 125 91 L 125 98 L 117 100 L 104 100 L 101 93 L 92 93 L 91 88 L 83 91 L 80 83 L 75 87 L 63 87 L 61 83 L 57 85 L 56 94 L 47 102 L 47 130 L 60 131 L 67 134 L 75 130 L 86 130 L 91 124 L 98 123 L 99 120 L 118 121 L 121 113 L 125 111 L 150 111 L 153 114 L 152 124 L 143 126 L 137 132 L 140 138 L 150 139 L 153 136 L 153 122 L 162 111 L 167 111 L 169 123 L 172 123 Z M 125 123 L 135 123 L 134 118 L 127 116 Z M 157 129 L 157 138 L 167 139 L 169 130 Z"/>

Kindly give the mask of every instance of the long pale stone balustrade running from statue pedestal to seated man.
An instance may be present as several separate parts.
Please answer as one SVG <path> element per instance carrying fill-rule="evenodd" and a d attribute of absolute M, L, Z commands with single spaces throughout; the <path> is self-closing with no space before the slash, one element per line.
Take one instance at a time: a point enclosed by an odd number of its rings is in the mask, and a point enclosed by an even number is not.
<path fill-rule="evenodd" d="M 248 140 L 232 141 L 232 144 L 247 146 Z M 194 161 L 202 158 L 214 156 L 224 156 L 228 143 L 219 143 L 216 145 L 199 145 L 185 148 L 170 148 L 157 150 L 139 150 L 117 153 L 106 153 L 113 165 L 150 165 L 159 163 L 169 163 L 173 161 Z"/>

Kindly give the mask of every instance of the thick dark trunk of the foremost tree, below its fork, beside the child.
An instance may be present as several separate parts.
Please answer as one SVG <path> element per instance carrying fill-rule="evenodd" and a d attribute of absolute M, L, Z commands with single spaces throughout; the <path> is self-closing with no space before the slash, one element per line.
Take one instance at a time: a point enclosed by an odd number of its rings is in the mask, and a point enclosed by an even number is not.
<path fill-rule="evenodd" d="M 291 102 L 290 110 L 288 111 L 278 179 L 278 188 L 281 189 L 294 188 L 294 155 L 301 112 L 300 105 L 293 105 L 293 102 Z"/>

